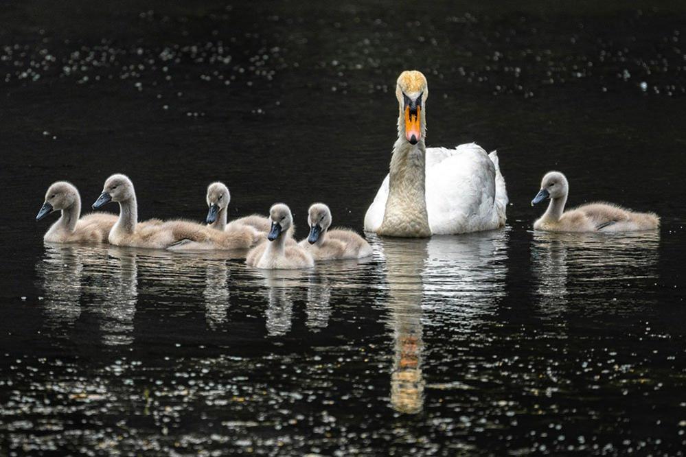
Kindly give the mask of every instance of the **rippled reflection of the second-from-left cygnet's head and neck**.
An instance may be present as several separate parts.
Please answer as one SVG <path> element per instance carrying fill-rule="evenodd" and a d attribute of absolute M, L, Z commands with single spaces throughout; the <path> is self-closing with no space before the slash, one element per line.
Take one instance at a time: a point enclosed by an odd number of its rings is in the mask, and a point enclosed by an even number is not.
<path fill-rule="evenodd" d="M 108 248 L 102 294 L 102 342 L 108 346 L 133 342 L 133 317 L 138 301 L 136 254 L 125 248 Z"/>

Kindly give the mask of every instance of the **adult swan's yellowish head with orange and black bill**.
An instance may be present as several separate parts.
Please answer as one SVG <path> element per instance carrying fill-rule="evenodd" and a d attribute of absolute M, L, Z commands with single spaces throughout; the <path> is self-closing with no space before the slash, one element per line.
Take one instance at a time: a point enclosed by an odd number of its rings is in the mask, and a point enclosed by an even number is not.
<path fill-rule="evenodd" d="M 422 139 L 422 110 L 428 97 L 426 78 L 421 71 L 408 70 L 400 73 L 396 84 L 396 97 L 400 104 L 400 121 L 398 128 L 404 132 L 410 144 L 419 143 Z"/>

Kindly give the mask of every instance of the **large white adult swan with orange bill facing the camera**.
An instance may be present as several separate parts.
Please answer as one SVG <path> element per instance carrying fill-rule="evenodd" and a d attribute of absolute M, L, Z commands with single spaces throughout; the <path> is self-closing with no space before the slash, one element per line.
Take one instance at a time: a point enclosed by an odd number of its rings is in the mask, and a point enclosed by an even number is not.
<path fill-rule="evenodd" d="M 426 78 L 403 71 L 396 85 L 398 139 L 390 173 L 365 215 L 365 231 L 428 237 L 505 225 L 507 191 L 497 153 L 469 143 L 426 148 Z"/>

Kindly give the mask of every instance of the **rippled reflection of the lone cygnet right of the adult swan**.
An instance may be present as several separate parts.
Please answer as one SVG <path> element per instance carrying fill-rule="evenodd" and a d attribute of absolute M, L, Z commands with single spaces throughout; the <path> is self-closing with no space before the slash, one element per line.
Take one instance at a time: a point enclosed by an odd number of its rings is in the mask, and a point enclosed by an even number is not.
<path fill-rule="evenodd" d="M 652 231 L 535 232 L 531 260 L 540 311 L 557 316 L 576 295 L 590 309 L 596 303 L 604 305 L 608 295 L 630 293 L 629 281 L 650 283 L 658 277 L 659 244 L 660 234 Z M 632 298 L 645 300 L 645 294 Z"/>

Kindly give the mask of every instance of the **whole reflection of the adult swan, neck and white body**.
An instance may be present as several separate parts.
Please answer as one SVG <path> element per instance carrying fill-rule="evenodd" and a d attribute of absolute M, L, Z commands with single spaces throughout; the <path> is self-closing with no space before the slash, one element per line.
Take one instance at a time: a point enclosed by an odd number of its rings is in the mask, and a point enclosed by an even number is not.
<path fill-rule="evenodd" d="M 474 331 L 505 290 L 507 231 L 422 239 L 371 237 L 385 260 L 393 331 L 391 406 L 424 407 L 424 325 Z"/>

